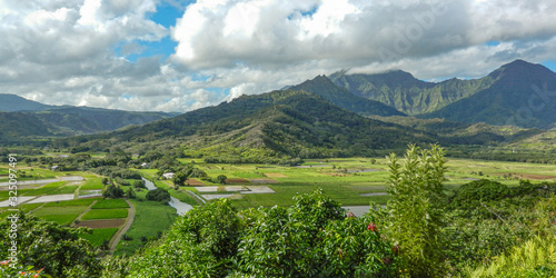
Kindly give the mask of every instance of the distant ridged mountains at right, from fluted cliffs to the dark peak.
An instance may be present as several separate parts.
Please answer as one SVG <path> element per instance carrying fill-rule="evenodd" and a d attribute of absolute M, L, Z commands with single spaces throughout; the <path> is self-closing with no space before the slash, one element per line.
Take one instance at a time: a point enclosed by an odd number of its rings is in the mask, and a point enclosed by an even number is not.
<path fill-rule="evenodd" d="M 347 75 L 330 80 L 355 96 L 380 101 L 419 118 L 552 129 L 556 122 L 556 73 L 523 60 L 486 77 L 426 82 L 408 72 Z"/>

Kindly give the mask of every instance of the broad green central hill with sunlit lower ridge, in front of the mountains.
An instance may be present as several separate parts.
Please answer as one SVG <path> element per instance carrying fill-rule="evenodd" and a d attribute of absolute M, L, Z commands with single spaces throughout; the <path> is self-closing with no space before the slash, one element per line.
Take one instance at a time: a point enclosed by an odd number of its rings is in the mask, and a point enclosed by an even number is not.
<path fill-rule="evenodd" d="M 185 142 L 189 153 L 219 158 L 370 155 L 408 142 L 436 142 L 431 136 L 364 118 L 314 93 L 286 90 L 244 96 L 141 127 L 89 136 L 79 146 L 107 148 L 113 141 L 129 141 L 122 146 L 136 147 L 168 139 Z M 59 143 L 72 147 L 69 141 Z"/>

